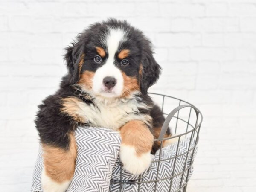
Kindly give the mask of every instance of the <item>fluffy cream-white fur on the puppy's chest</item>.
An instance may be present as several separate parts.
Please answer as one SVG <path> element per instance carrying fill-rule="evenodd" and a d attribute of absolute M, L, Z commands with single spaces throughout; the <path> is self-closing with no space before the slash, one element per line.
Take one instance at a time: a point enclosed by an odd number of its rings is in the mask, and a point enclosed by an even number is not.
<path fill-rule="evenodd" d="M 128 121 L 143 118 L 139 112 L 143 104 L 136 100 L 94 103 L 83 106 L 84 116 L 92 126 L 116 130 Z"/>

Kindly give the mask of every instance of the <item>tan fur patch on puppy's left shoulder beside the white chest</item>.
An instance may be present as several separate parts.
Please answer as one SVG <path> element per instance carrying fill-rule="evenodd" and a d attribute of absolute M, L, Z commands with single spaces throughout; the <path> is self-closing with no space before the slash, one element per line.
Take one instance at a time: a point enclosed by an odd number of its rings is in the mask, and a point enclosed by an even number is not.
<path fill-rule="evenodd" d="M 81 108 L 79 107 L 79 102 L 81 102 L 80 99 L 76 97 L 67 97 L 61 100 L 63 102 L 63 107 L 61 108 L 63 113 L 72 116 L 76 122 L 86 122 L 86 118 L 79 114 L 79 111 L 81 111 Z"/>

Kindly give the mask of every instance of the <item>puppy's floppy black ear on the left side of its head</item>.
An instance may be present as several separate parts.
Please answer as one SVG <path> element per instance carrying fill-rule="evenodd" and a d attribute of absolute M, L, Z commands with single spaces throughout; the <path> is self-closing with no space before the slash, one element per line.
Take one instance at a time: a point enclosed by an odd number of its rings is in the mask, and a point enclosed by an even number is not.
<path fill-rule="evenodd" d="M 68 79 L 71 84 L 76 84 L 79 80 L 79 58 L 81 56 L 81 44 L 80 43 L 72 43 L 71 46 L 65 49 L 67 52 L 64 55 L 64 59 L 67 64 L 68 69 Z"/>

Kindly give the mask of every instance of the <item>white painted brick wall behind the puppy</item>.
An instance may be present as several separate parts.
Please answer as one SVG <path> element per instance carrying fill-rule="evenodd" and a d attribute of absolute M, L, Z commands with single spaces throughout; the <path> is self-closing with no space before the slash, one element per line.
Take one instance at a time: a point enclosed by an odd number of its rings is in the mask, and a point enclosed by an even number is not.
<path fill-rule="evenodd" d="M 63 48 L 107 17 L 151 38 L 163 67 L 151 90 L 204 114 L 187 191 L 256 191 L 256 0 L 1 0 L 1 191 L 29 191 L 37 105 L 66 73 Z"/>

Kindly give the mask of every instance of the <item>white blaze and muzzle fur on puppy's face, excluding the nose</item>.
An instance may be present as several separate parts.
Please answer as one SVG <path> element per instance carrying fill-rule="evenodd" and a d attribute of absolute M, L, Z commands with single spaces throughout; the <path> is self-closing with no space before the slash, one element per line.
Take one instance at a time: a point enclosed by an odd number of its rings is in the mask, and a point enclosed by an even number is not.
<path fill-rule="evenodd" d="M 122 29 L 109 29 L 109 33 L 105 40 L 108 58 L 106 63 L 96 70 L 93 77 L 93 91 L 103 96 L 112 97 L 120 96 L 122 94 L 124 79 L 122 72 L 115 66 L 115 54 L 118 51 L 120 43 L 125 38 L 125 32 Z M 103 79 L 107 76 L 114 77 L 116 79 L 116 85 L 113 87 L 112 93 L 104 92 Z"/>

